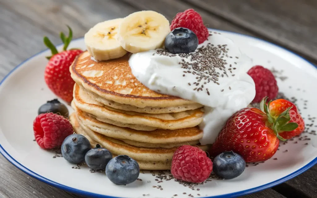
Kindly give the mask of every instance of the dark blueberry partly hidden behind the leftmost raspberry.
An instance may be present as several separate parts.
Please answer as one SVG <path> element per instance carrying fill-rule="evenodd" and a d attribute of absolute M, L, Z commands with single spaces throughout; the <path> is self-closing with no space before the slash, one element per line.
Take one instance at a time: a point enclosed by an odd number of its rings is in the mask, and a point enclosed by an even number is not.
<path fill-rule="evenodd" d="M 58 101 L 58 99 L 47 101 L 47 103 L 40 106 L 40 108 L 38 109 L 39 115 L 42 113 L 49 113 L 49 112 L 58 113 L 64 117 L 68 117 L 68 109 L 66 105 Z"/>

